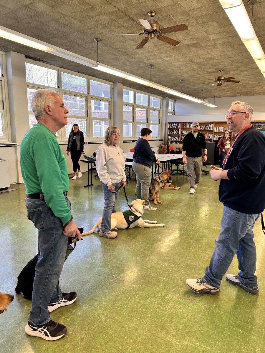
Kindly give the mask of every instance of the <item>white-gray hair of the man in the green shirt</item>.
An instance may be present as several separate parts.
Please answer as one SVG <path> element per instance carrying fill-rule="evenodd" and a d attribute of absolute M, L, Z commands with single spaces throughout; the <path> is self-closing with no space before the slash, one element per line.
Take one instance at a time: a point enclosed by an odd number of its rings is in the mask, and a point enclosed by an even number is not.
<path fill-rule="evenodd" d="M 52 93 L 57 93 L 54 89 L 38 89 L 32 94 L 31 109 L 36 120 L 43 119 L 46 105 L 53 106 L 56 102 Z"/>

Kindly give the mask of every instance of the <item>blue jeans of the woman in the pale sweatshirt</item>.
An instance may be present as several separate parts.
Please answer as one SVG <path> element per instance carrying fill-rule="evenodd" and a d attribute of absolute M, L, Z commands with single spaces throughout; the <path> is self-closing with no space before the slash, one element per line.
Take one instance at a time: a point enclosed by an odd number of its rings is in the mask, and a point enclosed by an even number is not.
<path fill-rule="evenodd" d="M 113 212 L 116 212 L 115 209 L 115 201 L 117 200 L 117 197 L 119 196 L 120 190 L 115 194 L 114 191 L 116 191 L 120 187 L 120 183 L 112 183 L 114 190 L 112 192 L 108 190 L 108 187 L 106 184 L 102 184 L 103 187 L 103 192 L 104 192 L 104 208 L 103 208 L 103 215 L 102 215 L 102 222 L 100 225 L 100 229 L 102 232 L 108 232 L 110 231 L 111 228 L 111 214 Z"/>

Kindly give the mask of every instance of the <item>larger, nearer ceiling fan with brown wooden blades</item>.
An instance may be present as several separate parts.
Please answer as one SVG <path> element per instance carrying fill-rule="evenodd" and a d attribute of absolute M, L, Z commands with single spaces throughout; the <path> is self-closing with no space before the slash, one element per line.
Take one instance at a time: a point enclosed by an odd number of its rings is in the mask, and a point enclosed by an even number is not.
<path fill-rule="evenodd" d="M 178 41 L 175 39 L 169 38 L 164 36 L 164 33 L 171 33 L 171 32 L 179 32 L 179 31 L 187 31 L 188 26 L 185 24 L 179 24 L 176 26 L 161 28 L 159 24 L 153 23 L 153 17 L 155 16 L 155 11 L 149 11 L 148 15 L 151 17 L 151 23 L 144 19 L 138 19 L 141 25 L 145 28 L 143 33 L 115 33 L 116 35 L 121 36 L 133 36 L 133 35 L 147 35 L 140 44 L 135 49 L 141 49 L 145 44 L 149 41 L 149 39 L 157 38 L 162 42 L 170 44 L 172 46 L 176 46 L 179 44 Z"/>

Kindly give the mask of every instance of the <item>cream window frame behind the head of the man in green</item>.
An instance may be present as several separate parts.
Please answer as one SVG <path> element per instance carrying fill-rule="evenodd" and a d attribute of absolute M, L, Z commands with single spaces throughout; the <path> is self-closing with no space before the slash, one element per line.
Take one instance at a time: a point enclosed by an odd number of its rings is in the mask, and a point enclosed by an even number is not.
<path fill-rule="evenodd" d="M 30 64 L 34 64 L 34 65 L 37 65 L 37 66 L 42 66 L 42 67 L 46 67 L 46 68 L 51 68 L 53 70 L 57 70 L 57 83 L 58 83 L 58 87 L 49 87 L 49 86 L 45 86 L 45 85 L 41 85 L 41 84 L 35 84 L 35 83 L 27 82 L 27 88 L 31 88 L 31 89 L 52 88 L 52 89 L 58 91 L 58 94 L 59 94 L 59 96 L 62 99 L 63 99 L 63 95 L 78 96 L 78 97 L 85 98 L 85 100 L 86 100 L 86 116 L 70 115 L 70 114 L 68 116 L 71 119 L 75 119 L 75 118 L 76 119 L 85 119 L 87 121 L 87 123 L 86 123 L 87 124 L 87 137 L 84 137 L 84 141 L 85 142 L 102 142 L 103 141 L 103 137 L 93 137 L 93 120 L 107 120 L 107 121 L 109 121 L 110 126 L 112 125 L 112 116 L 113 116 L 113 102 L 112 102 L 113 83 L 109 82 L 109 81 L 105 81 L 105 80 L 99 79 L 97 77 L 88 76 L 88 75 L 85 75 L 85 74 L 81 74 L 79 72 L 67 70 L 65 68 L 53 66 L 53 65 L 50 65 L 50 64 L 44 64 L 42 62 L 34 61 L 32 59 L 25 59 L 25 65 L 26 65 L 26 62 L 29 62 Z M 61 78 L 61 73 L 62 72 L 71 74 L 73 76 L 86 78 L 86 80 L 87 80 L 87 93 L 82 93 L 82 92 L 77 92 L 77 91 L 71 91 L 71 90 L 63 89 L 62 88 L 62 78 Z M 90 94 L 90 79 L 93 80 L 93 81 L 97 81 L 97 82 L 108 84 L 110 86 L 110 98 L 91 95 Z M 94 99 L 94 100 L 102 100 L 102 101 L 107 101 L 108 102 L 108 107 L 109 107 L 108 119 L 100 119 L 100 118 L 96 118 L 95 119 L 95 118 L 92 118 L 92 112 L 91 112 L 91 100 L 92 99 Z M 29 114 L 33 114 L 33 112 L 31 110 L 29 110 Z M 65 137 L 65 136 L 66 136 L 66 130 L 65 130 L 65 126 L 64 126 L 63 128 L 61 128 L 58 131 L 58 136 L 57 136 L 58 142 L 67 142 L 68 141 L 68 136 L 67 137 Z"/>

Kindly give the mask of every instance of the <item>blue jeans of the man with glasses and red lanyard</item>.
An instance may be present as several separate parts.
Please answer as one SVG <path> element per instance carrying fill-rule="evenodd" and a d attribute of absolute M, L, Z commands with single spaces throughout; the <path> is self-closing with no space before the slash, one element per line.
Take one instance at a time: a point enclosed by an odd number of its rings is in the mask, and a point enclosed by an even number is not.
<path fill-rule="evenodd" d="M 259 216 L 260 213 L 240 213 L 224 206 L 220 234 L 215 240 L 215 249 L 203 277 L 206 283 L 220 287 L 221 280 L 236 254 L 238 279 L 249 288 L 258 288 L 257 276 L 254 275 L 257 256 L 252 229 Z"/>

